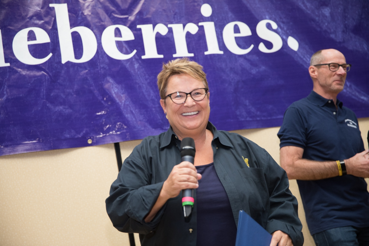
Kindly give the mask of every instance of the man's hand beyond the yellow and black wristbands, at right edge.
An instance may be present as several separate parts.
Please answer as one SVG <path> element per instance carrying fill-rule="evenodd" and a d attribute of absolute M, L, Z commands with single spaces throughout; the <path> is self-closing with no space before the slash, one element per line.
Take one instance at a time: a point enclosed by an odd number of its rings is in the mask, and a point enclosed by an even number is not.
<path fill-rule="evenodd" d="M 369 150 L 355 154 L 349 159 L 344 160 L 347 174 L 356 177 L 369 178 Z"/>

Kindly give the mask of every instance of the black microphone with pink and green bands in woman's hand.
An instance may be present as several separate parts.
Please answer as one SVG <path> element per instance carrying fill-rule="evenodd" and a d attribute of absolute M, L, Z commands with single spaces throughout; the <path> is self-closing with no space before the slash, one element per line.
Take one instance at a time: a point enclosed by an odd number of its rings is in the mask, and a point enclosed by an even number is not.
<path fill-rule="evenodd" d="M 195 159 L 195 141 L 192 138 L 184 138 L 181 142 L 181 158 L 182 161 L 188 161 L 193 164 Z M 182 191 L 182 207 L 184 218 L 188 219 L 192 213 L 193 207 L 193 189 L 184 189 Z"/>

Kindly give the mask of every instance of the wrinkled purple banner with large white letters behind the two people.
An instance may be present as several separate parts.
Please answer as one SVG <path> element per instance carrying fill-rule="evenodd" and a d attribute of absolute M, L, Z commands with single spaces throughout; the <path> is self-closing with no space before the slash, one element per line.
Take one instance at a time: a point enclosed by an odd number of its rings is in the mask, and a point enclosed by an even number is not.
<path fill-rule="evenodd" d="M 218 129 L 279 126 L 320 49 L 352 64 L 338 98 L 369 117 L 367 0 L 1 0 L 0 155 L 167 130 L 163 62 L 204 66 Z"/>

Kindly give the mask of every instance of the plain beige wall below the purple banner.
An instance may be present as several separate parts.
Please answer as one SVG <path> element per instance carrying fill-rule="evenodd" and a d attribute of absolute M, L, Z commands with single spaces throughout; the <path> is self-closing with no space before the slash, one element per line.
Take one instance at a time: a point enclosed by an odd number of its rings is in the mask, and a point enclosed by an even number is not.
<path fill-rule="evenodd" d="M 359 120 L 365 147 L 369 118 Z M 279 127 L 238 130 L 279 163 Z M 123 159 L 140 141 L 121 143 Z M 118 174 L 114 145 L 0 157 L 1 246 L 129 246 L 111 224 L 105 198 Z M 301 199 L 296 181 L 291 191 Z M 302 206 L 305 244 L 309 236 Z M 136 237 L 136 245 L 138 244 Z"/>

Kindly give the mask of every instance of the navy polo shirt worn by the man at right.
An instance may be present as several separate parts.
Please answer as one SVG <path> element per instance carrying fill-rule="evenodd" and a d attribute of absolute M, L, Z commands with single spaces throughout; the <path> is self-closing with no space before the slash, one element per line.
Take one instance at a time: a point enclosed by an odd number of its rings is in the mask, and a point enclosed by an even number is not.
<path fill-rule="evenodd" d="M 280 148 L 297 146 L 309 160 L 343 160 L 364 151 L 358 120 L 337 100 L 316 92 L 284 113 L 278 132 Z M 311 235 L 342 226 L 369 226 L 369 193 L 363 178 L 352 175 L 297 181 Z"/>

